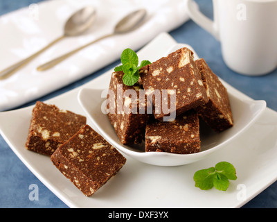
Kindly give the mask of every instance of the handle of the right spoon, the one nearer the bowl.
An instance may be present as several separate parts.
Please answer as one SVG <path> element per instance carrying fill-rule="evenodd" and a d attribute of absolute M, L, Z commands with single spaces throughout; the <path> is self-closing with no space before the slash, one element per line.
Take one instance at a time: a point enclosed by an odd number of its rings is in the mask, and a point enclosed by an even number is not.
<path fill-rule="evenodd" d="M 55 65 L 57 65 L 58 63 L 62 62 L 63 60 L 65 60 L 66 58 L 69 58 L 69 56 L 72 56 L 74 53 L 77 53 L 78 51 L 80 51 L 81 49 L 84 49 L 87 46 L 90 46 L 91 44 L 98 42 L 99 40 L 102 40 L 106 37 L 110 37 L 114 35 L 114 33 L 112 34 L 108 34 L 108 35 L 104 35 L 100 38 L 98 38 L 97 40 L 93 40 L 92 42 L 89 42 L 87 44 L 84 44 L 83 46 L 78 47 L 77 49 L 74 49 L 73 51 L 70 51 L 69 53 L 64 54 L 63 56 L 57 57 L 49 62 L 44 63 L 43 65 L 39 65 L 39 67 L 37 67 L 38 71 L 44 71 L 46 69 L 50 69 L 52 67 L 54 67 Z"/>

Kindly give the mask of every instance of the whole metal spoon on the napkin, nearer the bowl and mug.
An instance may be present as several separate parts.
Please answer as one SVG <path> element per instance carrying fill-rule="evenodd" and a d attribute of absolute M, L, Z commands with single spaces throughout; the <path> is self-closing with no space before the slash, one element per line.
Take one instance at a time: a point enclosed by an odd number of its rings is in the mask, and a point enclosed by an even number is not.
<path fill-rule="evenodd" d="M 146 14 L 147 14 L 147 12 L 145 9 L 140 9 L 140 10 L 131 12 L 129 15 L 127 15 L 126 17 L 121 19 L 120 22 L 118 22 L 118 24 L 114 28 L 113 33 L 104 35 L 104 36 L 98 38 L 97 40 L 94 40 L 93 42 L 89 42 L 88 44 L 85 44 L 84 46 L 80 46 L 79 48 L 74 49 L 73 51 L 70 51 L 69 53 L 64 54 L 63 56 L 60 56 L 58 58 L 55 58 L 54 60 L 46 62 L 44 65 L 40 65 L 39 67 L 37 67 L 37 70 L 44 71 L 46 69 L 50 69 L 51 67 L 54 67 L 55 65 L 62 62 L 66 58 L 69 58 L 69 56 L 72 56 L 74 53 L 76 53 L 76 52 L 80 51 L 81 49 L 84 49 L 85 47 L 87 47 L 95 42 L 98 42 L 99 40 L 102 40 L 106 37 L 133 31 L 135 28 L 137 28 L 139 26 L 139 24 L 141 24 L 141 22 L 143 21 L 143 19 L 146 16 Z"/>

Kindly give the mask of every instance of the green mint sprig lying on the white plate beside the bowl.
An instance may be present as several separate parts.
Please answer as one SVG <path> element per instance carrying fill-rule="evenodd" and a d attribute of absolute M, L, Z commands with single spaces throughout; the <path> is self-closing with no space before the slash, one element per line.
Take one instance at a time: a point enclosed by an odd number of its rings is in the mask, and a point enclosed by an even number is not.
<path fill-rule="evenodd" d="M 207 190 L 215 187 L 215 189 L 226 191 L 229 187 L 229 180 L 237 180 L 235 167 L 229 162 L 219 162 L 215 167 L 202 169 L 195 172 L 193 176 L 195 187 Z"/>

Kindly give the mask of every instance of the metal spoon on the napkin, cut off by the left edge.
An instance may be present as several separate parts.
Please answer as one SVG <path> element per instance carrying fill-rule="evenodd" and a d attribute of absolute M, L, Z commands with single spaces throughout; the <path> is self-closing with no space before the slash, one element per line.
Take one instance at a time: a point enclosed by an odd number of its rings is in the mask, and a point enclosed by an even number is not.
<path fill-rule="evenodd" d="M 75 12 L 64 25 L 64 34 L 61 37 L 58 37 L 57 39 L 53 40 L 51 43 L 49 43 L 47 46 L 44 46 L 43 49 L 37 51 L 32 56 L 29 56 L 28 58 L 21 60 L 20 62 L 17 62 L 15 65 L 12 65 L 3 71 L 0 71 L 0 80 L 4 78 L 8 78 L 12 74 L 15 73 L 18 69 L 21 67 L 24 67 L 30 60 L 33 60 L 36 56 L 38 56 L 40 53 L 48 49 L 50 46 L 53 46 L 53 44 L 59 42 L 64 37 L 69 36 L 76 36 L 80 35 L 81 33 L 84 33 L 84 31 L 87 31 L 87 29 L 93 24 L 93 22 L 96 19 L 96 9 L 93 6 L 87 6 L 84 7 L 77 12 Z"/>

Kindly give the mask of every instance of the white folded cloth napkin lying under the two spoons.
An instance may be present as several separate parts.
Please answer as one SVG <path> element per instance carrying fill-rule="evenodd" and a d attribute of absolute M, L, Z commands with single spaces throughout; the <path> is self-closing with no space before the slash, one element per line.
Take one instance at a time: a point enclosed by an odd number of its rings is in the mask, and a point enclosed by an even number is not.
<path fill-rule="evenodd" d="M 60 37 L 66 19 L 87 5 L 97 9 L 96 23 L 87 33 L 78 37 L 66 37 L 10 78 L 0 80 L 0 111 L 35 100 L 92 74 L 118 60 L 124 49 L 136 51 L 159 33 L 172 31 L 188 20 L 184 0 L 42 1 L 0 17 L 0 70 Z M 138 8 L 148 10 L 148 18 L 136 31 L 101 40 L 47 71 L 36 70 L 37 66 L 57 56 L 112 33 L 121 18 Z"/>

